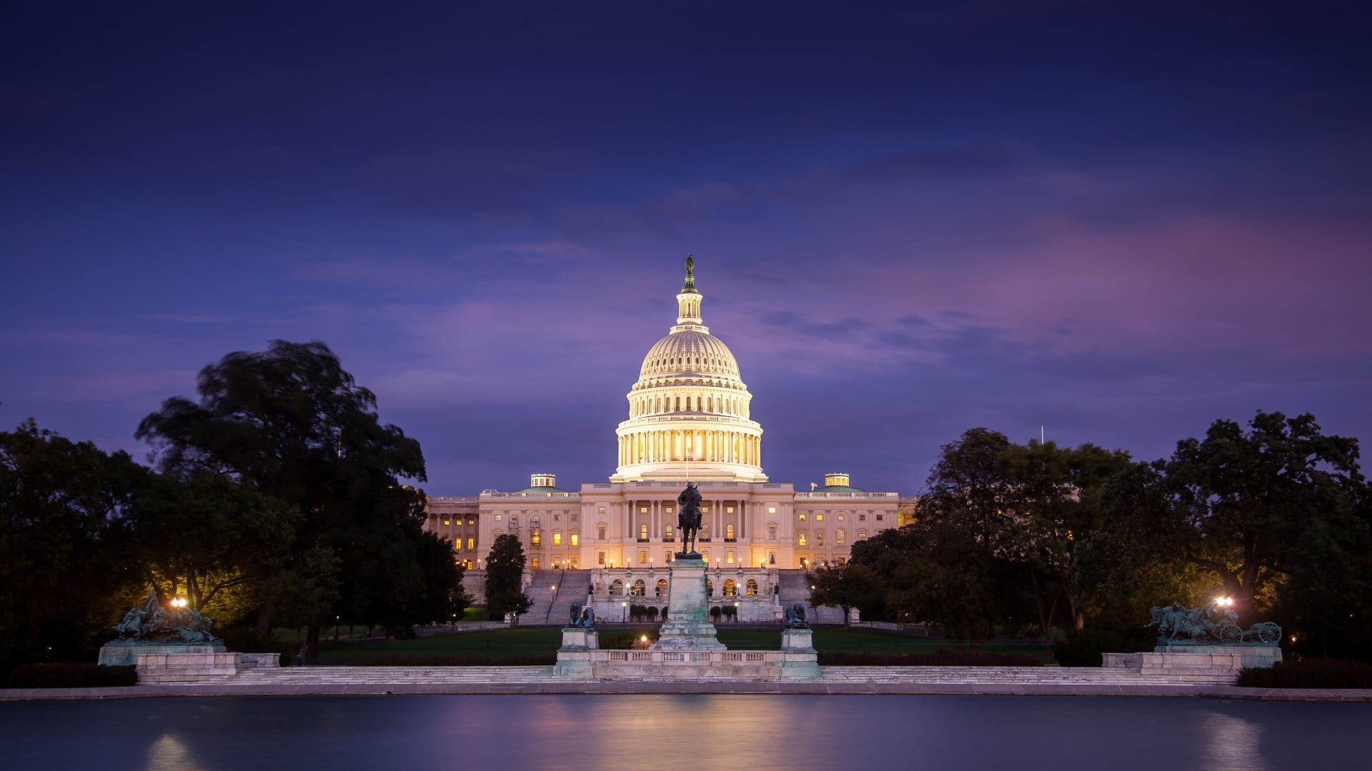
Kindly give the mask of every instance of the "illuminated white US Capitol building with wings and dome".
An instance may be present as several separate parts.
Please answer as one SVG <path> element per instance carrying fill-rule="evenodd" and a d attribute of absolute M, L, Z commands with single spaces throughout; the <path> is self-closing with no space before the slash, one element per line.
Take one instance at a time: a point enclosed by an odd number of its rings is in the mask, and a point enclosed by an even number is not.
<path fill-rule="evenodd" d="M 648 350 L 628 390 L 609 480 L 571 491 L 553 473 L 534 473 L 513 493 L 431 497 L 425 528 L 453 543 L 458 561 L 480 571 L 491 542 L 514 534 L 530 575 L 561 571 L 564 594 L 575 579 L 583 597 L 665 602 L 665 567 L 679 549 L 676 495 L 694 480 L 704 498 L 697 550 L 711 565 L 712 597 L 772 605 L 785 594 L 785 573 L 804 583 L 800 571 L 841 564 L 853 542 L 900 524 L 912 497 L 867 493 L 847 473 L 826 473 L 822 487 L 803 491 L 768 480 L 763 427 L 749 417 L 753 396 L 734 354 L 701 318 L 693 269 L 687 258 L 676 324 Z M 771 617 L 761 608 L 741 617 L 759 613 Z"/>

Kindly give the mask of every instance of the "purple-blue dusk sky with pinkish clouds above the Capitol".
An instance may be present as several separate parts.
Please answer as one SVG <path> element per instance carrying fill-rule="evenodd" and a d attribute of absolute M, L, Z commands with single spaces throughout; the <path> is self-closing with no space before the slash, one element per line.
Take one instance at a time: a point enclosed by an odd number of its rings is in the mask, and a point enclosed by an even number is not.
<path fill-rule="evenodd" d="M 1367 439 L 1364 5 L 8 3 L 0 425 L 321 339 L 431 494 L 604 482 L 694 252 L 775 482 Z"/>

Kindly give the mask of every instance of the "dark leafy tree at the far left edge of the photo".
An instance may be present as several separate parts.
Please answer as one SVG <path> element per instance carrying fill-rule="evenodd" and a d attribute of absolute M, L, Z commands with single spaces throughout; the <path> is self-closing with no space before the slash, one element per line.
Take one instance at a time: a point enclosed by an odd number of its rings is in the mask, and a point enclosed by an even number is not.
<path fill-rule="evenodd" d="M 106 454 L 33 420 L 0 432 L 0 672 L 73 660 L 147 591 L 126 513 L 148 480 L 128 453 Z"/>

